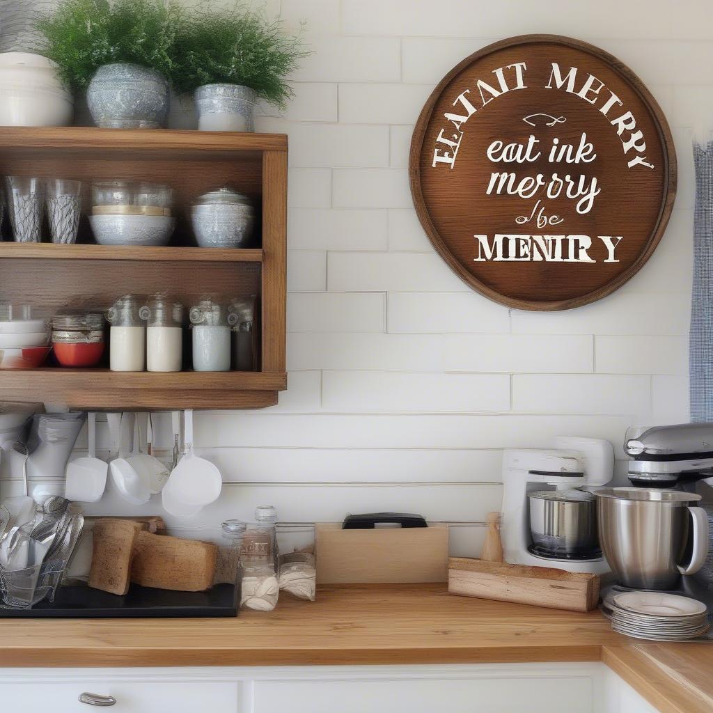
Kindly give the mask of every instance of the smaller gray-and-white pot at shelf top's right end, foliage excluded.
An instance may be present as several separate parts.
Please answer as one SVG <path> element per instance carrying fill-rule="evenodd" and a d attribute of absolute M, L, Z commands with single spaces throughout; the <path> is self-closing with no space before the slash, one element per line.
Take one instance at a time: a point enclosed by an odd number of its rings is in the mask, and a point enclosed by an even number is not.
<path fill-rule="evenodd" d="M 254 131 L 255 92 L 240 84 L 205 84 L 195 90 L 198 129 Z"/>

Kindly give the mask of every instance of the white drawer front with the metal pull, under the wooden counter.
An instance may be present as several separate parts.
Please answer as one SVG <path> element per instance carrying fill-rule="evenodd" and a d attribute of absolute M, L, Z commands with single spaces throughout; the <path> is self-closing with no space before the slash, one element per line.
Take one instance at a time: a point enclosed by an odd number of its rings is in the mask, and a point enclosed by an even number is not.
<path fill-rule="evenodd" d="M 111 680 L 78 677 L 71 682 L 0 683 L 6 711 L 18 713 L 94 713 L 98 707 L 79 702 L 81 693 L 113 696 L 111 713 L 237 713 L 237 682 Z"/>

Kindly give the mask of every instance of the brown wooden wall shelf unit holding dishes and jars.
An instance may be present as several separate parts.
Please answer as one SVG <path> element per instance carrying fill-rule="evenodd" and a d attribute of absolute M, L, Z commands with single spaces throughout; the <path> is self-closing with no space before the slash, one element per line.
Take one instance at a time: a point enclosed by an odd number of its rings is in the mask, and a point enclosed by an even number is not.
<path fill-rule="evenodd" d="M 0 127 L 0 175 L 75 178 L 87 185 L 102 179 L 167 183 L 175 191 L 178 216 L 176 245 L 170 247 L 90 244 L 86 218 L 76 245 L 0 242 L 0 301 L 32 304 L 48 314 L 80 305 L 106 309 L 122 294 L 162 291 L 186 307 L 203 294 L 220 299 L 255 294 L 260 302 L 260 371 L 0 370 L 0 400 L 107 411 L 277 404 L 277 392 L 287 388 L 286 136 Z M 195 247 L 188 207 L 226 183 L 255 203 L 258 247 Z"/>

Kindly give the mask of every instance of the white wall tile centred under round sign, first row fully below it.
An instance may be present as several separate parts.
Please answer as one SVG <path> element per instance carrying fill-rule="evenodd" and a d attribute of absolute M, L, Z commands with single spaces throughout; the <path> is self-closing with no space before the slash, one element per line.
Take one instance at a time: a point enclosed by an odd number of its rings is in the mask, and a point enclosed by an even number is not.
<path fill-rule="evenodd" d="M 593 371 L 593 339 L 562 334 L 450 334 L 446 371 L 586 374 Z"/>

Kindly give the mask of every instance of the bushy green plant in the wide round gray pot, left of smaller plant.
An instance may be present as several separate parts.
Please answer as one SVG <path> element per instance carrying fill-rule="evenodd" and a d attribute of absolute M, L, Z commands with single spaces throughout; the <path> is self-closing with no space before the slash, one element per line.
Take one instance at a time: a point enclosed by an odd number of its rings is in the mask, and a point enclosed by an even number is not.
<path fill-rule="evenodd" d="M 183 16 L 163 0 L 61 0 L 37 29 L 66 85 L 86 88 L 94 123 L 160 127 Z"/>

